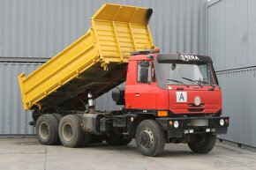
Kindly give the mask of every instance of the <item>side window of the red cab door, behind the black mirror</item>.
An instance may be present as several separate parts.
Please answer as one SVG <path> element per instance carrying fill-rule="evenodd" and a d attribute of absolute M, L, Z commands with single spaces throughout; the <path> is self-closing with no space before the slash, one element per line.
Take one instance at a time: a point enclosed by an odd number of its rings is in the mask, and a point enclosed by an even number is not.
<path fill-rule="evenodd" d="M 141 83 L 147 83 L 151 81 L 151 63 L 148 61 L 138 62 L 137 80 Z"/>

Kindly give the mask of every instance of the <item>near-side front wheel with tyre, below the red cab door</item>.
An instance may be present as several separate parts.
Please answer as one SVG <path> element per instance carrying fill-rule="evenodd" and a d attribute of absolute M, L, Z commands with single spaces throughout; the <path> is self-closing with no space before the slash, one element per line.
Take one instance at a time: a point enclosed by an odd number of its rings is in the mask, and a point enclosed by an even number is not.
<path fill-rule="evenodd" d="M 139 123 L 136 129 L 136 144 L 139 151 L 146 156 L 159 156 L 165 145 L 163 130 L 154 120 Z"/>

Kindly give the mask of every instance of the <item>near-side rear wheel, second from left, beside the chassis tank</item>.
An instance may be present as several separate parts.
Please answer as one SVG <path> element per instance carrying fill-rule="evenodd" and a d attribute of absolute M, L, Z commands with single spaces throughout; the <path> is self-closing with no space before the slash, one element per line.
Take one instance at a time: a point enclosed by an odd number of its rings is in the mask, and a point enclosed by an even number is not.
<path fill-rule="evenodd" d="M 79 115 L 65 115 L 59 123 L 58 133 L 62 144 L 66 147 L 79 147 L 85 141 L 85 133 L 81 128 Z"/>

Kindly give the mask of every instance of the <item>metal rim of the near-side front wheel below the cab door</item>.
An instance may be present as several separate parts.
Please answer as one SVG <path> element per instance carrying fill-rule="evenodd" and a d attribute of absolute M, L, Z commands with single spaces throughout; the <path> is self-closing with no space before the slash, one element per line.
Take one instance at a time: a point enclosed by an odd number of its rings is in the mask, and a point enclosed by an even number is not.
<path fill-rule="evenodd" d="M 139 143 L 144 149 L 151 148 L 154 144 L 153 132 L 148 128 L 142 129 L 139 133 Z"/>

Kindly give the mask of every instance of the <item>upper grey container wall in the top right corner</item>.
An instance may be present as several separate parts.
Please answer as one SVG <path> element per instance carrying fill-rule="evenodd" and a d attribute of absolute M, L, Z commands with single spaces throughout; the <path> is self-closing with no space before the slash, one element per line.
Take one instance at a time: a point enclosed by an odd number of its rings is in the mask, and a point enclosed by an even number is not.
<path fill-rule="evenodd" d="M 212 0 L 207 3 L 207 55 L 216 70 L 256 65 L 255 0 Z"/>

